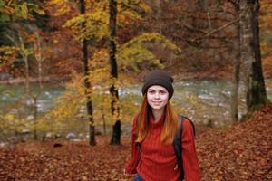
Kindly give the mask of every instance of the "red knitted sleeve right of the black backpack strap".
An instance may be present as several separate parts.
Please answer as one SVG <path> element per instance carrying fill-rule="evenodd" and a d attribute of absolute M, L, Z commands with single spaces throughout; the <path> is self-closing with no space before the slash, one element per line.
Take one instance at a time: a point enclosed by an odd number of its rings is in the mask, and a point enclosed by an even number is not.
<path fill-rule="evenodd" d="M 195 148 L 194 133 L 188 119 L 182 123 L 182 161 L 186 181 L 199 181 L 199 160 Z"/>

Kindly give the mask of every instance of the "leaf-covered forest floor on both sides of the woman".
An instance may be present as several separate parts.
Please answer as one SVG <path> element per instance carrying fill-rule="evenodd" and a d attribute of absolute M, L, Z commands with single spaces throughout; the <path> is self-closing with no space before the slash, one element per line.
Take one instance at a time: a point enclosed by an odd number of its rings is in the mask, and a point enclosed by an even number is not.
<path fill-rule="evenodd" d="M 201 180 L 272 180 L 271 110 L 264 106 L 247 121 L 201 131 L 196 138 Z M 3 147 L 0 180 L 132 180 L 122 174 L 130 138 L 121 141 L 111 146 L 109 137 L 99 136 L 95 147 L 63 140 Z"/>

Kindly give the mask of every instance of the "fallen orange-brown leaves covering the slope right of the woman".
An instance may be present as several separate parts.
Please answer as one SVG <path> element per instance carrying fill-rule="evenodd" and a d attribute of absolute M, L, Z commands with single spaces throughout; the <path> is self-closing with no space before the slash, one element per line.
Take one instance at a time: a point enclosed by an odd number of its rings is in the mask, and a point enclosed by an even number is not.
<path fill-rule="evenodd" d="M 213 129 L 197 139 L 203 180 L 269 180 L 272 105 L 247 122 Z M 270 156 L 269 156 L 270 155 Z M 271 175 L 271 174 L 270 174 Z"/>

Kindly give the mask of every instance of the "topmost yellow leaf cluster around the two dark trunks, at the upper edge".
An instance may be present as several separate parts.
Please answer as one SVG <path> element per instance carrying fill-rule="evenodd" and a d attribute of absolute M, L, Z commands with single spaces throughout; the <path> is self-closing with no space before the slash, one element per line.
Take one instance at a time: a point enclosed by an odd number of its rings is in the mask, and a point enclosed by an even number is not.
<path fill-rule="evenodd" d="M 52 0 L 49 5 L 63 5 L 64 0 Z M 66 5 L 66 4 L 65 4 Z M 63 6 L 65 6 L 63 5 Z M 109 8 L 107 1 L 87 1 L 86 13 L 80 14 L 68 20 L 63 27 L 70 28 L 76 39 L 82 41 L 95 40 L 100 41 L 109 36 Z M 64 8 L 64 7 L 63 7 Z M 134 20 L 141 20 L 138 11 L 150 11 L 150 7 L 143 1 L 118 1 L 117 24 L 132 24 Z M 58 8 L 59 14 L 63 14 L 63 9 Z M 84 26 L 82 26 L 84 24 Z"/>

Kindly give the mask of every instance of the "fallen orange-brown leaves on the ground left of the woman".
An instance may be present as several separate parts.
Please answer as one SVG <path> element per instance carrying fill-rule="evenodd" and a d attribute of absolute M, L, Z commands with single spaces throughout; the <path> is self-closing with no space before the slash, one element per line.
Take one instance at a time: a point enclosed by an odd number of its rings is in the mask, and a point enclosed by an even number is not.
<path fill-rule="evenodd" d="M 104 139 L 98 138 L 96 147 L 63 142 L 53 148 L 53 142 L 36 142 L 1 149 L 0 180 L 120 180 L 129 147 L 104 145 Z"/>

